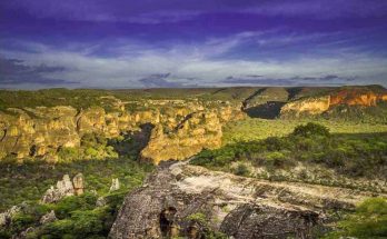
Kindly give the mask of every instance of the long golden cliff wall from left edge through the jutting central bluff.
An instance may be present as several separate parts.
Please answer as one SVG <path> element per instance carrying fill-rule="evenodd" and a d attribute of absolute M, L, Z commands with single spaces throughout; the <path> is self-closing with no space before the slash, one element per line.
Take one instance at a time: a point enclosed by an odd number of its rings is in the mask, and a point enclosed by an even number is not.
<path fill-rule="evenodd" d="M 77 110 L 69 106 L 0 111 L 0 160 L 14 155 L 19 159 L 40 157 L 54 161 L 58 149 L 80 147 L 81 138 L 87 133 L 115 138 L 140 130 L 143 123 L 155 126 L 143 157 L 156 163 L 166 159 L 182 159 L 201 148 L 219 146 L 221 123 L 232 116 L 241 116 L 238 107 L 227 103 L 207 106 L 196 101 L 152 100 L 136 103 L 146 106 L 146 109 L 129 111 L 120 102 L 108 112 L 101 107 Z M 215 108 L 214 103 L 219 106 Z M 188 147 L 192 149 L 188 150 Z"/>

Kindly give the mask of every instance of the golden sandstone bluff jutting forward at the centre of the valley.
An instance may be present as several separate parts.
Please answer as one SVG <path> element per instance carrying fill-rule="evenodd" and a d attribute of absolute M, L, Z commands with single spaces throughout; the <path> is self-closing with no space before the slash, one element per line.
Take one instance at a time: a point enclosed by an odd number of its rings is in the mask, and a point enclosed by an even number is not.
<path fill-rule="evenodd" d="M 238 119 L 241 114 L 234 114 L 230 108 L 194 112 L 167 133 L 162 125 L 158 125 L 151 132 L 148 146 L 141 151 L 141 158 L 151 159 L 158 165 L 169 159 L 187 159 L 204 148 L 218 148 L 221 146 L 221 126 L 231 117 Z"/>

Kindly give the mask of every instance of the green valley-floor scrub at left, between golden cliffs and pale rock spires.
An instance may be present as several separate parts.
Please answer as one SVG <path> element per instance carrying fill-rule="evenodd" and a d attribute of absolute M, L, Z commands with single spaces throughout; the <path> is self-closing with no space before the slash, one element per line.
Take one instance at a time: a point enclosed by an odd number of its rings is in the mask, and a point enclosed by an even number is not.
<path fill-rule="evenodd" d="M 141 185 L 146 173 L 151 170 L 152 166 L 128 158 L 79 160 L 56 165 L 36 160 L 24 161 L 23 165 L 1 162 L 0 211 L 26 200 L 40 199 L 44 191 L 66 173 L 73 177 L 82 172 L 87 190 L 106 193 L 112 178 L 118 178 L 121 186 L 130 190 Z"/>

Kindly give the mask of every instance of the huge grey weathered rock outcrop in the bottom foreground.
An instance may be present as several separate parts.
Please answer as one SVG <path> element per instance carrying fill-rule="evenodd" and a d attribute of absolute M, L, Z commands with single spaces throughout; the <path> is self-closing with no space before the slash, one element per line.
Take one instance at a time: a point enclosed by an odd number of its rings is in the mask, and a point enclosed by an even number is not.
<path fill-rule="evenodd" d="M 351 209 L 371 193 L 306 183 L 270 182 L 210 171 L 186 162 L 163 163 L 130 192 L 110 238 L 201 238 L 208 228 L 236 239 L 312 238 L 329 210 Z M 199 233 L 199 235 L 198 235 Z"/>

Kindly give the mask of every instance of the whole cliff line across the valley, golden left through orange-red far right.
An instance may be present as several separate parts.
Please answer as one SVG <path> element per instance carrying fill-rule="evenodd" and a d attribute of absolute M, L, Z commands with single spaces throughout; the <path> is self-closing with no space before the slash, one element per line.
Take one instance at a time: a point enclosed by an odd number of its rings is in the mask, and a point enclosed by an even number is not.
<path fill-rule="evenodd" d="M 141 127 L 148 125 L 150 128 L 145 129 L 150 132 L 142 133 L 148 133 L 150 138 L 143 139 L 146 142 L 140 157 L 158 165 L 169 159 L 186 159 L 205 148 L 219 148 L 224 125 L 241 120 L 246 113 L 258 118 L 267 113 L 269 118 L 300 118 L 329 114 L 339 106 L 375 108 L 387 100 L 386 89 L 367 87 L 337 88 L 299 97 L 290 96 L 291 91 L 286 88 L 229 91 L 231 93 L 226 94 L 226 99 L 222 97 L 222 100 L 220 97 L 200 100 L 197 94 L 190 99 L 130 101 L 115 96 L 99 96 L 93 100 L 103 104 L 87 108 L 66 104 L 7 107 L 0 110 L 0 160 L 14 156 L 20 160 L 39 158 L 56 162 L 60 160 L 58 150 L 79 148 L 86 135 L 113 139 L 141 133 Z"/>

